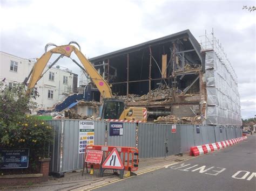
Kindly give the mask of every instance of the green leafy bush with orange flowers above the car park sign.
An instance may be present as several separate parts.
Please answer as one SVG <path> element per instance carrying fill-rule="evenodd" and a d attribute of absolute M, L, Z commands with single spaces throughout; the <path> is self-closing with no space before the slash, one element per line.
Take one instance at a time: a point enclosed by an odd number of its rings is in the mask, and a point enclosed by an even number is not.
<path fill-rule="evenodd" d="M 53 140 L 50 125 L 25 114 L 32 105 L 31 95 L 23 84 L 9 88 L 0 83 L 0 148 L 29 148 L 29 172 L 38 170 L 38 159 L 49 157 Z"/>

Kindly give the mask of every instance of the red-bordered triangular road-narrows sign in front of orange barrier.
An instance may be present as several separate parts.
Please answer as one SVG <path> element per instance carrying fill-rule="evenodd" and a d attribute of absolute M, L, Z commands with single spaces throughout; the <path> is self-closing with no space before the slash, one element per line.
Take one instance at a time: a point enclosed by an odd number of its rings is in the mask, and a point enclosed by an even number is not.
<path fill-rule="evenodd" d="M 117 152 L 117 148 L 114 148 L 107 156 L 106 160 L 102 164 L 102 168 L 124 169 L 124 165 Z"/>

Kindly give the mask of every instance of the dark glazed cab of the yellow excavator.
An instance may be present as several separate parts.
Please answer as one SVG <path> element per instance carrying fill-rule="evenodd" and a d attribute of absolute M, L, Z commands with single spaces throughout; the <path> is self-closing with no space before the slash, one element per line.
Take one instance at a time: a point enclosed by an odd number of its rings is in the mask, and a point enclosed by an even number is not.
<path fill-rule="evenodd" d="M 124 101 L 115 98 L 104 98 L 102 118 L 103 119 L 119 119 L 124 111 Z"/>

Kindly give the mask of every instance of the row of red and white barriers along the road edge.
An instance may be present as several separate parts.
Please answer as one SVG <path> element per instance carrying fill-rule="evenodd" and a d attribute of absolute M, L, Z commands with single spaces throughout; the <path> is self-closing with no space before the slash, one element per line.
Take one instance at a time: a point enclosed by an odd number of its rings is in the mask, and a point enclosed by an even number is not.
<path fill-rule="evenodd" d="M 231 139 L 231 140 L 225 140 L 223 142 L 218 142 L 218 143 L 212 143 L 212 144 L 206 144 L 206 145 L 200 145 L 200 146 L 193 146 L 193 147 L 190 148 L 190 155 L 196 157 L 196 156 L 201 155 L 201 154 L 214 152 L 214 151 L 223 149 L 225 147 L 232 146 L 234 144 L 240 143 L 245 139 L 247 139 L 246 136 Z"/>

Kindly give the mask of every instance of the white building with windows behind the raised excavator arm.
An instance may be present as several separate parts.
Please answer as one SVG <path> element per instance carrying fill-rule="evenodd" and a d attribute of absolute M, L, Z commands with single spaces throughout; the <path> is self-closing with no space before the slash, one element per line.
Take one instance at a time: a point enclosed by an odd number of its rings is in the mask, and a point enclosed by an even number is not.
<path fill-rule="evenodd" d="M 0 80 L 5 79 L 9 86 L 22 83 L 35 64 L 34 61 L 19 58 L 5 52 L 0 52 Z M 36 98 L 38 108 L 52 108 L 58 102 L 64 100 L 69 94 L 77 91 L 78 75 L 71 70 L 59 66 L 53 66 L 49 70 L 46 66 L 42 79 L 36 86 L 39 97 Z M 43 73 L 44 73 L 43 72 Z"/>

